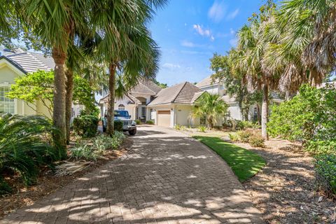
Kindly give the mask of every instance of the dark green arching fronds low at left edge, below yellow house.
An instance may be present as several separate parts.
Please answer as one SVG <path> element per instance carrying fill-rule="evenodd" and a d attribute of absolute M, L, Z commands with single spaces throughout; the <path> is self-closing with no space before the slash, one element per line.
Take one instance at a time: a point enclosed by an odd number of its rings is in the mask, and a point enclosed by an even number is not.
<path fill-rule="evenodd" d="M 52 146 L 52 132 L 57 132 L 42 116 L 0 114 L 0 176 L 18 172 L 25 184 L 36 181 L 39 167 L 50 166 L 64 158 L 64 150 Z"/>

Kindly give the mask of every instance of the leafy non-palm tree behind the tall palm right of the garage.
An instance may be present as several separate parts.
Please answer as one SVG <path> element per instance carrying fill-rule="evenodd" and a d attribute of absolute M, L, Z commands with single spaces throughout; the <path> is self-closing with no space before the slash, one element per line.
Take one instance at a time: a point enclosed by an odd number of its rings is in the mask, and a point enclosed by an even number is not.
<path fill-rule="evenodd" d="M 235 97 L 235 99 L 237 99 L 239 109 L 244 117 L 244 120 L 248 120 L 250 106 L 260 104 L 261 102 L 260 91 L 248 91 L 246 85 L 243 84 L 243 77 L 239 75 L 232 75 L 232 65 L 230 64 L 231 62 L 228 55 L 222 56 L 214 54 L 214 57 L 210 59 L 210 62 L 210 68 L 214 71 L 211 76 L 212 82 L 224 84 L 226 93 L 230 97 Z"/>

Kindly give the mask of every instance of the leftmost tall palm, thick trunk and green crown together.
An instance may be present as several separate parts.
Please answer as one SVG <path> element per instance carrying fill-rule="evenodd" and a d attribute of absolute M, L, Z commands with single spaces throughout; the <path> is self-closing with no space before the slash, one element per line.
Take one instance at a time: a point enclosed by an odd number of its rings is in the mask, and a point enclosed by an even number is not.
<path fill-rule="evenodd" d="M 66 59 L 68 48 L 73 40 L 74 30 L 79 30 L 87 24 L 87 12 L 90 0 L 22 1 L 25 11 L 22 20 L 25 27 L 33 34 L 33 42 L 40 42 L 44 48 L 51 50 L 55 61 L 54 111 L 53 123 L 59 128 L 61 135 L 57 136 L 59 144 L 66 145 Z"/>

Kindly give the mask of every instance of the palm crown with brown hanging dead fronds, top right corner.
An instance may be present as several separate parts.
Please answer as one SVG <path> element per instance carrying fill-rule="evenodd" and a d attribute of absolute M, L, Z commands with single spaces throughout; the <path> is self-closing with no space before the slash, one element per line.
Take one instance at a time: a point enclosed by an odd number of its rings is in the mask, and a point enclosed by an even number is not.
<path fill-rule="evenodd" d="M 279 31 L 290 29 L 293 44 L 304 41 L 302 64 L 318 85 L 335 68 L 336 5 L 333 0 L 290 0 L 280 8 Z M 286 27 L 286 28 L 285 28 Z"/>

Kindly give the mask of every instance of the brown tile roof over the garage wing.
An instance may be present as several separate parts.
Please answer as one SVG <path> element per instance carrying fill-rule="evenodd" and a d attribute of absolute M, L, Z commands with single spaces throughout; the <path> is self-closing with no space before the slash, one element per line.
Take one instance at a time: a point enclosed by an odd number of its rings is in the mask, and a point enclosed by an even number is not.
<path fill-rule="evenodd" d="M 184 82 L 172 87 L 167 87 L 160 92 L 148 106 L 160 105 L 160 104 L 193 104 L 195 99 L 195 93 L 202 92 L 200 88 L 192 83 Z"/>

